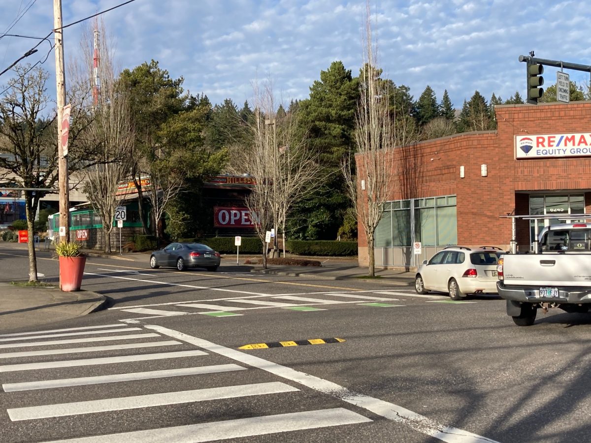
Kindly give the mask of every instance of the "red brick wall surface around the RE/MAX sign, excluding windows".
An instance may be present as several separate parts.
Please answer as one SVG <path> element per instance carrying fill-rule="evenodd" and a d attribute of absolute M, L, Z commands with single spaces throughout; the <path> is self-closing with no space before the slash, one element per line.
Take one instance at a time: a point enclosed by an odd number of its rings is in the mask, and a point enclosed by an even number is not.
<path fill-rule="evenodd" d="M 397 179 L 388 200 L 456 194 L 460 245 L 508 245 L 511 220 L 499 216 L 527 214 L 525 191 L 591 189 L 591 157 L 517 160 L 514 152 L 516 135 L 591 132 L 591 102 L 501 105 L 495 110 L 496 132 L 463 133 L 392 149 Z M 480 174 L 482 164 L 487 165 L 486 177 Z M 465 178 L 460 178 L 460 165 Z M 591 210 L 590 194 L 585 204 Z M 518 223 L 518 243 L 528 242 L 528 226 Z M 367 245 L 361 223 L 358 242 Z"/>

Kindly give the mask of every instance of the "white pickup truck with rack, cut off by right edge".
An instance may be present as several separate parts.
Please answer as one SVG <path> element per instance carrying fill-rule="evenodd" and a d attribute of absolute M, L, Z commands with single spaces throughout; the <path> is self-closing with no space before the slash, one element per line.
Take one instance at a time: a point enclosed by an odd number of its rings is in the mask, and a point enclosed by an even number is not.
<path fill-rule="evenodd" d="M 505 254 L 497 265 L 499 296 L 519 326 L 538 309 L 591 310 L 591 223 L 562 223 L 540 233 L 537 253 Z"/>

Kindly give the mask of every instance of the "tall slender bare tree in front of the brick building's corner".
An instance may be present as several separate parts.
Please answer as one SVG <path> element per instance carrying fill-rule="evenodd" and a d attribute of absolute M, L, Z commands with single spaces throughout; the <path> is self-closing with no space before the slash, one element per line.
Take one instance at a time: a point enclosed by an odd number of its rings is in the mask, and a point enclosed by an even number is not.
<path fill-rule="evenodd" d="M 376 67 L 376 48 L 372 43 L 369 3 L 366 4 L 366 36 L 363 69 L 359 82 L 360 98 L 356 112 L 356 175 L 349 161 L 343 174 L 359 223 L 368 244 L 368 275 L 375 276 L 374 233 L 384 213 L 393 175 L 394 125 L 389 110 L 388 87 Z"/>

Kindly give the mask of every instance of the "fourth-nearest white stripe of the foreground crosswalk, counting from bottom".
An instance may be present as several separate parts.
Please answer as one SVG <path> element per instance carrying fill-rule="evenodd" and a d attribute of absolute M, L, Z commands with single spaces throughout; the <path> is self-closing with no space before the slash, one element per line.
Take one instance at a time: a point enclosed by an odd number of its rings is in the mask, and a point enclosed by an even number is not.
<path fill-rule="evenodd" d="M 176 351 L 176 352 L 161 352 L 156 354 L 141 354 L 134 356 L 118 356 L 118 357 L 98 357 L 96 359 L 83 360 L 60 360 L 60 361 L 41 361 L 40 363 L 19 363 L 19 364 L 4 364 L 0 366 L 0 372 L 12 371 L 29 371 L 35 369 L 52 369 L 56 367 L 70 367 L 70 366 L 92 366 L 94 364 L 112 364 L 124 363 L 127 361 L 146 361 L 146 360 L 163 360 L 175 359 L 177 357 L 194 357 L 206 356 L 207 353 L 203 351 Z"/>

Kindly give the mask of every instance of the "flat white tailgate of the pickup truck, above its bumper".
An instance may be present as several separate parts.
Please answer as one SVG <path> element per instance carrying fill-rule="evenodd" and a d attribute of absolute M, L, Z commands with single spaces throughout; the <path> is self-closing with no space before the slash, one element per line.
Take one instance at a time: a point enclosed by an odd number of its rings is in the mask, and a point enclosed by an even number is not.
<path fill-rule="evenodd" d="M 505 285 L 591 286 L 591 255 L 504 255 Z"/>

